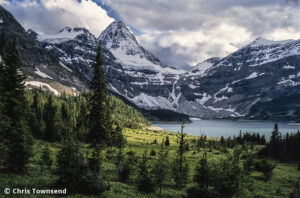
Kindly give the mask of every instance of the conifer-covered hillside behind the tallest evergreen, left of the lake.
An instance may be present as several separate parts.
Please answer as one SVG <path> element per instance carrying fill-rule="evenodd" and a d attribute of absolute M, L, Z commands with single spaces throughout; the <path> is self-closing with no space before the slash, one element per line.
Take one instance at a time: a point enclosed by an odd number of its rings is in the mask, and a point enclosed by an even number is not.
<path fill-rule="evenodd" d="M 89 93 L 78 96 L 54 96 L 41 90 L 25 93 L 29 106 L 28 123 L 37 139 L 54 142 L 61 140 L 66 131 L 72 129 L 84 141 L 88 133 Z M 122 100 L 109 95 L 111 119 L 114 125 L 128 128 L 142 128 L 149 125 L 146 118 Z M 67 123 L 67 124 L 66 124 Z"/>

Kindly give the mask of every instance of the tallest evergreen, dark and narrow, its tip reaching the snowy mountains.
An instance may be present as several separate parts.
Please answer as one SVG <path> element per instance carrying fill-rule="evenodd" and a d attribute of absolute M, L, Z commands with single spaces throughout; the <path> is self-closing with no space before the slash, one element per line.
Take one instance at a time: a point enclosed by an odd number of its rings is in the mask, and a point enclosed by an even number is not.
<path fill-rule="evenodd" d="M 112 133 L 112 122 L 108 102 L 107 84 L 102 68 L 103 59 L 99 45 L 96 63 L 93 65 L 94 77 L 90 84 L 91 95 L 89 98 L 89 134 L 88 141 L 92 145 L 105 145 L 109 143 Z"/>

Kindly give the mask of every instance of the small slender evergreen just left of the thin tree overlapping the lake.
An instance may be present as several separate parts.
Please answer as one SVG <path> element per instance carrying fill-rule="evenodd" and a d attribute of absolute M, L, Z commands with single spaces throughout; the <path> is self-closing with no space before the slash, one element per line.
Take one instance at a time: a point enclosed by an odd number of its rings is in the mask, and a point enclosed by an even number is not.
<path fill-rule="evenodd" d="M 164 142 L 162 141 L 153 167 L 154 182 L 159 187 L 159 197 L 161 197 L 162 185 L 168 179 L 168 174 L 169 174 L 168 152 L 165 151 Z"/>

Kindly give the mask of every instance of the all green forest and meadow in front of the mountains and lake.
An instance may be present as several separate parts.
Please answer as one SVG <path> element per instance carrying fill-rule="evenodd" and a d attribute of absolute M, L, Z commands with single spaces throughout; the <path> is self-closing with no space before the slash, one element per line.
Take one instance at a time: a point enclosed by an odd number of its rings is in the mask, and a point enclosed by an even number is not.
<path fill-rule="evenodd" d="M 26 90 L 14 42 L 0 64 L 0 186 L 69 197 L 300 197 L 300 132 L 214 139 L 151 131 L 109 94 L 99 46 L 90 91 Z M 52 192 L 43 197 L 59 196 Z M 63 194 L 60 194 L 60 196 Z M 1 194 L 0 196 L 8 197 Z M 28 197 L 40 197 L 28 194 Z"/>

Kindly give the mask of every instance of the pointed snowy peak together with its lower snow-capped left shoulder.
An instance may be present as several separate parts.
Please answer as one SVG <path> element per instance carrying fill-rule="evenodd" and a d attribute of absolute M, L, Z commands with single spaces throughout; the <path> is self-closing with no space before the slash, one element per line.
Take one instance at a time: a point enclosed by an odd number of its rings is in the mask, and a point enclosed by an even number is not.
<path fill-rule="evenodd" d="M 145 50 L 124 23 L 116 21 L 110 24 L 98 41 L 88 31 L 73 32 L 75 28 L 64 28 L 56 35 L 38 35 L 37 38 L 45 49 L 67 62 L 69 68 L 82 73 L 86 81 L 92 77 L 91 64 L 97 45 L 101 43 L 106 77 L 112 92 L 138 107 L 177 109 L 180 94 L 175 93 L 174 82 L 184 71 L 163 64 Z"/>

